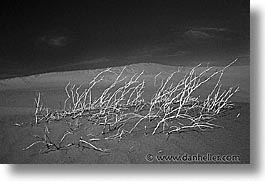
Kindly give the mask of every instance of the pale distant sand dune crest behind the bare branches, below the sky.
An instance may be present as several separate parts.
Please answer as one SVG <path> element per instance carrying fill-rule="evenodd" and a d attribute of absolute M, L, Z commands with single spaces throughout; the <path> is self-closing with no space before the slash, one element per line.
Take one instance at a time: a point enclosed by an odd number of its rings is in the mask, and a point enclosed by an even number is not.
<path fill-rule="evenodd" d="M 212 71 L 220 70 L 222 67 L 213 67 Z M 122 67 L 114 67 L 114 72 L 119 72 Z M 144 70 L 144 77 L 151 79 L 157 73 L 161 72 L 162 77 L 168 76 L 174 71 L 180 71 L 177 76 L 184 76 L 191 67 L 166 66 L 154 63 L 140 63 L 127 66 L 124 74 L 133 74 Z M 201 67 L 198 71 L 205 69 Z M 38 74 L 26 77 L 17 77 L 12 79 L 0 80 L 0 91 L 6 90 L 21 90 L 21 89 L 59 89 L 63 88 L 69 81 L 75 84 L 86 83 L 104 69 L 96 70 L 80 70 L 67 72 L 52 72 Z M 113 80 L 114 75 L 108 74 L 105 76 L 105 81 Z M 223 77 L 225 86 L 240 86 L 241 92 L 238 94 L 242 101 L 249 101 L 249 66 L 232 66 L 226 70 Z"/>

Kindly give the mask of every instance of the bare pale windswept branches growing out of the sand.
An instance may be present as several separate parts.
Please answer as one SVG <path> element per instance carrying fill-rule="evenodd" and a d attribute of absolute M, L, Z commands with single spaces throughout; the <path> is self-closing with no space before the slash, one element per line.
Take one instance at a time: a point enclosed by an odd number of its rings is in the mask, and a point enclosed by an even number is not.
<path fill-rule="evenodd" d="M 35 120 L 32 125 L 41 127 L 43 136 L 33 135 L 33 143 L 24 150 L 41 144 L 40 153 L 68 150 L 71 147 L 108 152 L 110 150 L 96 143 L 103 140 L 120 141 L 138 128 L 144 129 L 145 135 L 161 133 L 169 136 L 183 131 L 205 131 L 220 127 L 214 123 L 216 116 L 233 107 L 230 98 L 239 91 L 239 87 L 222 90 L 221 79 L 225 70 L 236 61 L 212 72 L 210 70 L 213 67 L 198 72 L 197 69 L 201 67 L 199 64 L 178 82 L 172 81 L 172 77 L 181 69 L 161 83 L 157 80 L 159 73 L 154 76 L 156 92 L 150 100 L 143 96 L 146 85 L 142 78 L 144 71 L 128 77 L 124 75 L 126 67 L 119 73 L 107 68 L 88 84 L 77 86 L 69 82 L 65 86 L 67 98 L 62 110 L 45 107 L 39 93 L 35 99 Z M 99 96 L 94 96 L 92 90 L 104 80 L 106 73 L 114 74 L 116 79 Z M 212 79 L 216 83 L 205 99 L 194 94 Z M 56 130 L 50 131 L 50 127 L 55 124 L 63 126 L 64 132 L 54 135 Z M 93 133 L 95 130 L 97 134 Z"/>

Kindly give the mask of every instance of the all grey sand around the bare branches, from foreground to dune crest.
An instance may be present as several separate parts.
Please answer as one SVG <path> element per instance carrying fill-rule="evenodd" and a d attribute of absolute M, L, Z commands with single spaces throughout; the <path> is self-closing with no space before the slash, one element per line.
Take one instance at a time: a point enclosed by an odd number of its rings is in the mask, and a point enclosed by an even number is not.
<path fill-rule="evenodd" d="M 114 71 L 120 67 L 113 68 Z M 179 67 L 158 64 L 130 65 L 125 75 L 145 70 L 144 79 L 147 80 L 144 97 L 147 99 L 154 92 L 153 77 L 159 72 L 162 76 L 158 82 Z M 178 81 L 190 67 L 183 67 L 177 73 L 174 81 Z M 214 67 L 213 71 L 220 69 Z M 29 77 L 20 77 L 0 81 L 0 163 L 187 163 L 147 161 L 146 155 L 183 155 L 207 153 L 216 155 L 239 155 L 240 161 L 250 162 L 250 108 L 249 108 L 249 66 L 232 66 L 225 72 L 223 87 L 240 86 L 240 92 L 232 101 L 233 110 L 221 114 L 216 123 L 224 128 L 213 129 L 207 132 L 185 132 L 166 135 L 156 134 L 145 136 L 144 130 L 139 128 L 133 134 L 123 138 L 120 142 L 99 141 L 98 146 L 110 149 L 110 153 L 101 153 L 92 149 L 81 150 L 71 148 L 68 151 L 54 151 L 47 154 L 37 154 L 40 146 L 36 145 L 29 150 L 22 149 L 33 142 L 32 134 L 40 133 L 40 128 L 32 128 L 34 102 L 38 92 L 43 96 L 46 106 L 61 109 L 66 98 L 64 86 L 71 81 L 81 84 L 91 80 L 100 70 L 85 70 L 72 72 L 56 72 Z M 95 95 L 104 86 L 108 85 L 113 75 L 106 75 L 105 81 L 96 87 Z M 212 81 L 214 82 L 214 81 Z M 209 93 L 213 83 L 209 82 L 197 94 L 202 96 Z M 240 113 L 240 116 L 238 116 Z M 18 123 L 20 126 L 15 126 Z M 150 125 L 152 127 L 152 125 Z M 63 126 L 51 125 L 51 130 L 60 134 Z M 201 163 L 201 162 L 200 162 Z M 230 162 L 227 162 L 230 163 Z"/>

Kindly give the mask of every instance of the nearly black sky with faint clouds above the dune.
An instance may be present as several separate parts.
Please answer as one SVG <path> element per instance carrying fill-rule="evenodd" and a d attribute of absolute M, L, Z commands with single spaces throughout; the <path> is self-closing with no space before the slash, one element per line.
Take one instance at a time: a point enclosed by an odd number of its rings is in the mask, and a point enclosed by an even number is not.
<path fill-rule="evenodd" d="M 249 61 L 246 0 L 1 3 L 2 77 L 142 61 Z M 90 67 L 78 67 L 82 62 Z"/>

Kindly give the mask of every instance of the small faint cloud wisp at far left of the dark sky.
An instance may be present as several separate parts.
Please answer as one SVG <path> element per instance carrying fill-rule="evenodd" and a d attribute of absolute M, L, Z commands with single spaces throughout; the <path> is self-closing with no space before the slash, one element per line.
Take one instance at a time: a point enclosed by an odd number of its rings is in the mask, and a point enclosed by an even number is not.
<path fill-rule="evenodd" d="M 63 47 L 68 44 L 68 37 L 66 36 L 43 36 L 40 40 L 48 45 Z"/>

